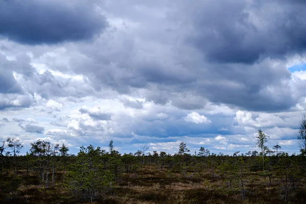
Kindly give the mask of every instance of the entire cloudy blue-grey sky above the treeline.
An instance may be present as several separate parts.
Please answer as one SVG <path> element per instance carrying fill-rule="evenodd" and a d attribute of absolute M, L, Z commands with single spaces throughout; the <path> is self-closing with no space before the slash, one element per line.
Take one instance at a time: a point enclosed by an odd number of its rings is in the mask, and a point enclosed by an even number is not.
<path fill-rule="evenodd" d="M 301 0 L 0 1 L 0 139 L 299 153 Z"/>

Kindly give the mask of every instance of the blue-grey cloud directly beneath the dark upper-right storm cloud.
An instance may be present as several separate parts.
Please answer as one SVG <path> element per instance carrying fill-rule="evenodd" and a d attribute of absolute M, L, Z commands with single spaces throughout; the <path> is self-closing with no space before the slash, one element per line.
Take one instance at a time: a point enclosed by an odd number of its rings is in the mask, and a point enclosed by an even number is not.
<path fill-rule="evenodd" d="M 292 90 L 291 74 L 284 65 L 275 66 L 269 61 L 254 65 L 214 65 L 209 75 L 210 78 L 197 84 L 196 93 L 214 103 L 247 110 L 287 110 L 305 95 L 303 90 Z"/>

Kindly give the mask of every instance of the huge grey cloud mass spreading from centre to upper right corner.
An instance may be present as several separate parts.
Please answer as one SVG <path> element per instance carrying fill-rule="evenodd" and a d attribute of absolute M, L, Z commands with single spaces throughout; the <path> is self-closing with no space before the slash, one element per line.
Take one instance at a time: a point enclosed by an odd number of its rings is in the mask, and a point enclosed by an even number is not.
<path fill-rule="evenodd" d="M 94 46 L 73 47 L 82 55 L 73 56 L 70 67 L 86 75 L 98 91 L 141 91 L 146 101 L 185 110 L 202 109 L 212 101 L 273 112 L 288 110 L 306 96 L 297 88 L 304 83 L 292 82 L 285 64 L 288 55 L 304 50 L 306 4 L 170 2 L 154 8 L 141 3 L 142 11 L 133 2 L 123 13 L 113 3 L 114 18 L 138 27 L 105 33 Z M 160 10 L 163 17 L 144 15 L 159 7 L 167 8 Z"/>

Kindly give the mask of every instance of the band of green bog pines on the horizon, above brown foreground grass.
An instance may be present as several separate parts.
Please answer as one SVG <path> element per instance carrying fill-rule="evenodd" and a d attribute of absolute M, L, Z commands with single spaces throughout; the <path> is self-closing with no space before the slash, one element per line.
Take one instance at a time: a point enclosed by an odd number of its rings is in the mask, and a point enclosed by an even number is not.
<path fill-rule="evenodd" d="M 35 177 L 35 185 L 48 189 L 58 183 L 74 198 L 93 201 L 111 193 L 114 186 L 123 182 L 122 175 L 137 177 L 141 167 L 155 166 L 166 170 L 170 178 L 177 173 L 185 177 L 198 173 L 198 179 L 202 180 L 201 172 L 207 172 L 212 178 L 222 181 L 223 190 L 239 192 L 242 200 L 253 193 L 246 188 L 252 175 L 261 175 L 266 180 L 267 191 L 275 185 L 279 196 L 288 201 L 305 188 L 305 135 L 306 120 L 303 118 L 298 136 L 301 154 L 292 156 L 281 151 L 279 145 L 268 148 L 269 136 L 261 130 L 258 130 L 256 143 L 259 151 L 237 151 L 232 156 L 211 154 L 204 147 L 190 154 L 184 142 L 174 155 L 165 151 L 150 152 L 146 145 L 134 154 L 121 155 L 114 149 L 113 141 L 110 141 L 108 151 L 89 145 L 82 146 L 77 155 L 71 155 L 65 144 L 44 140 L 31 143 L 27 154 L 20 156 L 23 145 L 18 139 L 8 138 L 0 146 L 0 194 L 14 194 L 23 179 Z"/>

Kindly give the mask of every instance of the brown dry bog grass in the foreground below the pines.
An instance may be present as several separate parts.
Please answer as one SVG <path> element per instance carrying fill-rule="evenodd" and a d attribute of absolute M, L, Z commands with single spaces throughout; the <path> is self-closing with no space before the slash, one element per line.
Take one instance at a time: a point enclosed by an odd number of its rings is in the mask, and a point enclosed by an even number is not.
<path fill-rule="evenodd" d="M 172 173 L 166 168 L 158 169 L 145 166 L 135 174 L 124 173 L 121 181 L 104 199 L 95 203 L 282 203 L 281 182 L 273 180 L 273 186 L 267 187 L 267 177 L 248 175 L 246 177 L 246 199 L 241 200 L 237 188 L 228 189 L 221 176 L 212 176 L 211 172 Z M 61 177 L 60 172 L 58 177 Z M 38 185 L 35 176 L 27 178 L 14 193 L 0 190 L 1 203 L 82 203 L 65 190 L 60 182 L 50 185 Z M 302 189 L 302 190 L 301 190 Z M 290 203 L 306 203 L 304 184 L 300 184 Z"/>

